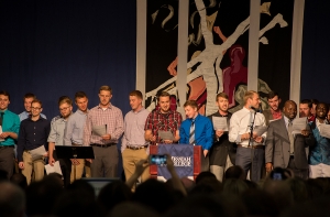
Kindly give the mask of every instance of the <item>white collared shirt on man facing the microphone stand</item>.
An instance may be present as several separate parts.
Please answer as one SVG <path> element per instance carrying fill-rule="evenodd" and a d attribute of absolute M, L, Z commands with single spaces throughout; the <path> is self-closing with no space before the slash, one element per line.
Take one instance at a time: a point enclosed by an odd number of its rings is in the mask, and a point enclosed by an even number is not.
<path fill-rule="evenodd" d="M 251 115 L 253 116 L 254 111 L 250 111 L 245 107 L 241 110 L 234 112 L 230 119 L 230 128 L 229 128 L 229 141 L 235 142 L 243 147 L 248 147 L 249 140 L 241 141 L 241 135 L 243 133 L 250 132 L 250 124 L 251 124 Z M 254 119 L 254 126 L 266 126 L 264 115 L 256 112 Z M 266 137 L 266 132 L 262 134 L 263 138 Z M 253 140 L 252 140 L 253 141 Z M 257 144 L 256 142 L 253 142 Z"/>

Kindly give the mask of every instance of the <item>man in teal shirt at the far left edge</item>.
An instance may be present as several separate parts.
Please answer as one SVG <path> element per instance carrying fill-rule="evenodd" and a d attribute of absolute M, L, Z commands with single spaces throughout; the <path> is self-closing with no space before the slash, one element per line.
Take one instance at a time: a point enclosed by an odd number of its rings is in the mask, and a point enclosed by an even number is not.
<path fill-rule="evenodd" d="M 14 144 L 20 130 L 20 118 L 8 110 L 10 95 L 8 91 L 0 91 L 0 170 L 7 172 L 10 178 L 14 166 Z"/>

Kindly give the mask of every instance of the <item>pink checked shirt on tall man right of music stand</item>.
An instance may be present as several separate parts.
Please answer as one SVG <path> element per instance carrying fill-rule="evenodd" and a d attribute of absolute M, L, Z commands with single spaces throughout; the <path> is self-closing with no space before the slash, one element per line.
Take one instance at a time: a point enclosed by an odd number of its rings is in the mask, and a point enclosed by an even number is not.
<path fill-rule="evenodd" d="M 101 137 L 91 132 L 92 126 L 107 127 L 107 133 L 111 135 L 110 140 L 103 140 Z M 119 138 L 123 133 L 122 111 L 111 104 L 107 109 L 96 106 L 89 110 L 84 127 L 84 145 L 118 143 Z"/>

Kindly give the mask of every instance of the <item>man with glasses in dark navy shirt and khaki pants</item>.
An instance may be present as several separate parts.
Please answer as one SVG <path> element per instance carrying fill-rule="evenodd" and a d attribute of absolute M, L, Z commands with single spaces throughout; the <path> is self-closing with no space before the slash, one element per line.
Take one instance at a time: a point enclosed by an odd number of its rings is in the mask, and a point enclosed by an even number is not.
<path fill-rule="evenodd" d="M 44 177 L 44 155 L 32 158 L 31 150 L 40 147 L 47 149 L 47 137 L 51 131 L 48 120 L 41 117 L 43 110 L 42 102 L 34 99 L 31 102 L 31 117 L 23 120 L 20 127 L 18 140 L 18 161 L 22 174 L 26 177 L 28 185 L 31 183 L 32 171 L 34 172 L 34 181 L 41 181 Z"/>

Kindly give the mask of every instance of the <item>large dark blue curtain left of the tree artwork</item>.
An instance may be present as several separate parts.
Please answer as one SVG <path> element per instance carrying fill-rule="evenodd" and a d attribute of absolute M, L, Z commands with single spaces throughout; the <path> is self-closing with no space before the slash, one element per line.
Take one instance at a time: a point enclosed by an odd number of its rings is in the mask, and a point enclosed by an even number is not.
<path fill-rule="evenodd" d="M 1 0 L 0 89 L 11 95 L 10 110 L 22 112 L 31 91 L 52 119 L 59 96 L 84 90 L 92 108 L 109 85 L 124 115 L 135 88 L 135 1 Z"/>

